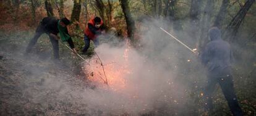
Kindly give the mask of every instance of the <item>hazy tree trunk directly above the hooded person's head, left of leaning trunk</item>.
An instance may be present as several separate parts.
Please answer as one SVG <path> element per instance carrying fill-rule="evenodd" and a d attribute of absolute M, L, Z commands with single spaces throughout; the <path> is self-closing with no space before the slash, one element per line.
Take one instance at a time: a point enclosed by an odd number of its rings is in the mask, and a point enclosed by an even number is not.
<path fill-rule="evenodd" d="M 215 22 L 213 24 L 215 27 L 221 28 L 221 25 L 223 23 L 223 20 L 225 19 L 226 13 L 228 12 L 227 11 L 228 10 L 227 9 L 228 4 L 229 4 L 229 0 L 223 0 L 222 1 L 220 11 L 218 12 L 218 15 L 217 15 L 217 17 L 215 19 Z"/>

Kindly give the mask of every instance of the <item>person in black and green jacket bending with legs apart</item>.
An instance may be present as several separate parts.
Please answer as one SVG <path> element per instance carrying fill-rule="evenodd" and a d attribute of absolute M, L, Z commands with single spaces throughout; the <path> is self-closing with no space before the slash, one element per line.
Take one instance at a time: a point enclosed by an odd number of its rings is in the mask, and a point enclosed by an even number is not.
<path fill-rule="evenodd" d="M 45 17 L 41 20 L 40 25 L 36 28 L 36 33 L 33 38 L 28 43 L 26 53 L 32 51 L 33 46 L 36 44 L 36 41 L 43 33 L 46 33 L 49 36 L 51 44 L 53 45 L 53 54 L 54 59 L 59 59 L 59 36 L 61 35 L 62 41 L 67 41 L 70 48 L 75 51 L 74 43 L 67 31 L 67 25 L 70 24 L 70 21 L 67 18 L 62 18 L 61 20 L 56 19 L 55 17 Z"/>

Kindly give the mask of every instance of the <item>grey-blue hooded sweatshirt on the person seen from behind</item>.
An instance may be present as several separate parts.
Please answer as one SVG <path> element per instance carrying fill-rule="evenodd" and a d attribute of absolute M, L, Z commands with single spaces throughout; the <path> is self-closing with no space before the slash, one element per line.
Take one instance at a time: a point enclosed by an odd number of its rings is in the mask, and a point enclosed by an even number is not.
<path fill-rule="evenodd" d="M 200 59 L 208 68 L 208 76 L 212 78 L 231 75 L 233 54 L 228 42 L 221 39 L 221 31 L 213 27 L 209 30 L 211 41 L 207 44 Z"/>

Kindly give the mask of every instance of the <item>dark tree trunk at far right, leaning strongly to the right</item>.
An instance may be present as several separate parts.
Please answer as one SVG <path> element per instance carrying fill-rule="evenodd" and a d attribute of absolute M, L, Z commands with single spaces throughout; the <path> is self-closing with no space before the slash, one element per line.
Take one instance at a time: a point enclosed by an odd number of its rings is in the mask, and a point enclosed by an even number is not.
<path fill-rule="evenodd" d="M 236 16 L 231 20 L 226 31 L 224 33 L 224 37 L 229 41 L 233 41 L 236 39 L 237 31 L 244 20 L 245 15 L 247 14 L 248 10 L 254 4 L 255 0 L 247 0 L 244 6 L 237 12 Z"/>

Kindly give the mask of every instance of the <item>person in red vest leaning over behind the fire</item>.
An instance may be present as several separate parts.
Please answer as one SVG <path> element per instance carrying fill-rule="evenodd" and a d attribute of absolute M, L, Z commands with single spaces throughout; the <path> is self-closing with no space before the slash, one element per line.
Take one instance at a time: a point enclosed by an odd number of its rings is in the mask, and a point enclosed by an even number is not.
<path fill-rule="evenodd" d="M 93 41 L 95 47 L 99 45 L 99 40 L 97 39 L 97 36 L 101 35 L 102 31 L 103 21 L 100 19 L 100 17 L 95 17 L 89 20 L 88 25 L 86 25 L 84 31 L 85 47 L 82 50 L 83 54 L 85 54 L 90 47 L 90 40 Z"/>

